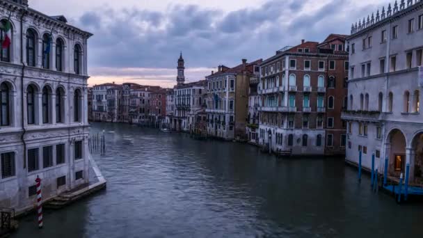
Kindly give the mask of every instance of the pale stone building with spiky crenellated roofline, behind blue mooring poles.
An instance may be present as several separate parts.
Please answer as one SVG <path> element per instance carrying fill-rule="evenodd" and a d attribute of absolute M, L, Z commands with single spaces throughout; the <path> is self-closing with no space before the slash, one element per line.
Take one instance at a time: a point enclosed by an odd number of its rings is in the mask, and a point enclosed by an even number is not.
<path fill-rule="evenodd" d="M 349 42 L 346 160 L 423 183 L 423 1 L 401 1 L 353 24 Z M 420 71 L 422 72 L 422 71 Z"/>

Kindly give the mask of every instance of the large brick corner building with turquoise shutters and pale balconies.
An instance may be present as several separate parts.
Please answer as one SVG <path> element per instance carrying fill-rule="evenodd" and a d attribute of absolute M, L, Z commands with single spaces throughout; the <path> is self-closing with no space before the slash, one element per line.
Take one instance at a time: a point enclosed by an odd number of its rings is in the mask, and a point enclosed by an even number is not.
<path fill-rule="evenodd" d="M 292 154 L 344 154 L 345 35 L 285 47 L 261 65 L 259 142 Z"/>

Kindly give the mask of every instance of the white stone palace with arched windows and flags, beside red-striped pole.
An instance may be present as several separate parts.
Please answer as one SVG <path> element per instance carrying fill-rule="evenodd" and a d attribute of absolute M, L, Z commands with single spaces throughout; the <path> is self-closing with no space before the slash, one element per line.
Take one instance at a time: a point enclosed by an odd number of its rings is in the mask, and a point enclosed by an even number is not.
<path fill-rule="evenodd" d="M 9 15 L 11 45 L 0 53 L 0 207 L 21 212 L 36 203 L 37 177 L 43 200 L 88 183 L 91 34 L 26 0 L 0 0 L 0 21 Z"/>

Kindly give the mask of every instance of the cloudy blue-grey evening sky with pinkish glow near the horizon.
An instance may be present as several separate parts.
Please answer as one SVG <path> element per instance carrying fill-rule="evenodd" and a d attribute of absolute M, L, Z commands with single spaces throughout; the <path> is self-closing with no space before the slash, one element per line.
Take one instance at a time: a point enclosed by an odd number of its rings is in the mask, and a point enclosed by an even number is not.
<path fill-rule="evenodd" d="M 133 81 L 171 87 L 179 51 L 187 81 L 217 65 L 268 58 L 301 39 L 348 34 L 351 23 L 390 0 L 29 0 L 47 15 L 94 34 L 88 84 Z"/>

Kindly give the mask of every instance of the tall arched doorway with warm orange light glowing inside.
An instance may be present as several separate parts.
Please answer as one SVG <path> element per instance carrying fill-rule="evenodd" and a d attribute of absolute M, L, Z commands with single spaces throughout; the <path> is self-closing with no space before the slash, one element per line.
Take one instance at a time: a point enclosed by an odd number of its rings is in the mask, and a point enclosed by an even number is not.
<path fill-rule="evenodd" d="M 399 177 L 401 173 L 405 173 L 406 169 L 406 136 L 399 129 L 393 129 L 388 134 L 387 141 L 388 173 Z"/>

